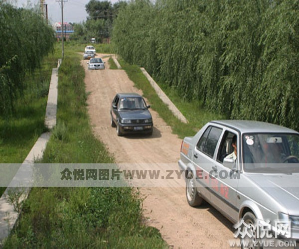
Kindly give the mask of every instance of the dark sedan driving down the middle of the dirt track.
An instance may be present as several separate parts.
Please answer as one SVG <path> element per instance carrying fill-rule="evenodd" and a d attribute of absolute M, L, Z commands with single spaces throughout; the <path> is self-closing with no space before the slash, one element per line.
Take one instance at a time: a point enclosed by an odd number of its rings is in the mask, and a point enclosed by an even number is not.
<path fill-rule="evenodd" d="M 136 93 L 118 93 L 111 105 L 111 126 L 119 136 L 129 133 L 152 134 L 152 118 L 144 98 Z"/>

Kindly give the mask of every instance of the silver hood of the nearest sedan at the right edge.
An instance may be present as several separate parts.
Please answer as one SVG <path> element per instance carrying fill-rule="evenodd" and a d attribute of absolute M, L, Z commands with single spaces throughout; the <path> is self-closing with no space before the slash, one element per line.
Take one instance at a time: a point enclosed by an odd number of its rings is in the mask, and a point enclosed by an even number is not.
<path fill-rule="evenodd" d="M 290 214 L 299 215 L 299 174 L 250 174 L 248 178 Z"/>

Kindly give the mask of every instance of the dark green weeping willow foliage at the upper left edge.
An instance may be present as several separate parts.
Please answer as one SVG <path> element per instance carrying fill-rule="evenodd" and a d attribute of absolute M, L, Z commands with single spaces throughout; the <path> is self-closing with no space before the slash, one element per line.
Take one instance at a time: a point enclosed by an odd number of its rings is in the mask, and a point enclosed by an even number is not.
<path fill-rule="evenodd" d="M 32 9 L 0 2 L 0 115 L 8 117 L 23 96 L 23 78 L 53 48 L 54 32 Z"/>

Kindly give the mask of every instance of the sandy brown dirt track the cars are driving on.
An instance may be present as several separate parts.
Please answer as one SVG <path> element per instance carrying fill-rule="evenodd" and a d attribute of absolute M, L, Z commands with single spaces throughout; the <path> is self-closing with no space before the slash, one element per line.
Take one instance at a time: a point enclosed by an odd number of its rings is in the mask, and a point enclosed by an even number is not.
<path fill-rule="evenodd" d="M 98 54 L 97 57 L 106 55 Z M 150 110 L 154 123 L 152 136 L 123 136 L 116 134 L 110 126 L 110 104 L 119 92 L 142 91 L 123 70 L 110 70 L 108 58 L 105 70 L 85 68 L 88 111 L 94 132 L 114 154 L 118 163 L 175 163 L 181 139 L 171 133 L 171 128 Z M 150 104 L 147 101 L 148 104 Z M 184 181 L 178 179 L 177 181 Z M 185 198 L 185 188 L 180 187 L 141 188 L 144 200 L 144 215 L 149 226 L 159 229 L 163 239 L 173 248 L 230 248 L 228 240 L 234 239 L 232 224 L 210 205 L 191 208 Z"/>

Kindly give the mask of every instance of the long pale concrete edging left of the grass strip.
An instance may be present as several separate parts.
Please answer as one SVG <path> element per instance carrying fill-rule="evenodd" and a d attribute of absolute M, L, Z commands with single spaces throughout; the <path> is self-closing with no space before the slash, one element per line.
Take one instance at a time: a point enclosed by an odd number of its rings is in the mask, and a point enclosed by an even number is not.
<path fill-rule="evenodd" d="M 58 69 L 61 64 L 61 59 L 58 60 L 57 68 L 52 69 L 51 82 L 48 93 L 48 101 L 45 115 L 45 125 L 51 130 L 56 125 L 56 113 L 57 113 L 57 97 L 58 97 Z M 5 192 L 0 198 L 0 247 L 1 241 L 5 239 L 11 229 L 14 227 L 18 213 L 14 210 L 13 205 L 8 202 L 8 194 L 19 192 L 22 194 L 19 200 L 25 200 L 30 192 L 30 187 L 13 187 L 18 182 L 18 179 L 32 179 L 32 166 L 34 161 L 41 158 L 43 151 L 46 148 L 46 144 L 50 138 L 51 132 L 46 132 L 40 135 L 36 143 L 30 150 L 24 162 L 16 172 L 15 176 L 9 183 Z"/>

